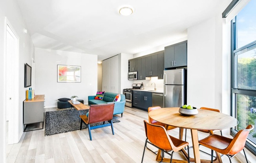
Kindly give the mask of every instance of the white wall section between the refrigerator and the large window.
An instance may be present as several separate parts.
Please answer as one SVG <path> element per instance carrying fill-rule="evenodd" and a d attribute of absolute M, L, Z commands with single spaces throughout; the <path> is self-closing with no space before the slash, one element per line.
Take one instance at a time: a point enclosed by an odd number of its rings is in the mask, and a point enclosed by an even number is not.
<path fill-rule="evenodd" d="M 229 69 L 223 57 L 221 15 L 188 28 L 187 103 L 223 109 L 222 92 L 227 90 L 223 90 L 222 74 Z"/>

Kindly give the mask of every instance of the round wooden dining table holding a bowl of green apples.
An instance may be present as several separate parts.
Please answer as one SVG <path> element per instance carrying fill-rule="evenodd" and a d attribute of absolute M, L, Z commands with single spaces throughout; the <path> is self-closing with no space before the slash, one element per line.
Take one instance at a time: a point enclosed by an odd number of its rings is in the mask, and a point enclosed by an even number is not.
<path fill-rule="evenodd" d="M 199 156 L 199 145 L 197 130 L 210 130 L 210 134 L 213 134 L 211 130 L 229 129 L 238 125 L 236 118 L 223 114 L 220 112 L 214 112 L 210 110 L 197 109 L 198 114 L 193 116 L 186 116 L 179 113 L 179 107 L 169 107 L 155 109 L 148 113 L 148 116 L 153 120 L 179 127 L 180 139 L 182 139 L 183 129 L 190 129 L 192 136 L 192 145 L 194 150 L 194 159 L 190 158 L 190 161 L 195 163 L 209 162 L 209 160 L 201 160 Z M 183 149 L 183 153 L 185 150 Z M 216 152 L 216 162 L 222 163 L 220 154 Z"/>

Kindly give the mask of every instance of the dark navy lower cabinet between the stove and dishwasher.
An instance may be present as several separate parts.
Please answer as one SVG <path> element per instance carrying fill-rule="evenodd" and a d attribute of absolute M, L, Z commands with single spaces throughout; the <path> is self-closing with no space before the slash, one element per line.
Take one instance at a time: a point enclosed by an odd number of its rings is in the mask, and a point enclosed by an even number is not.
<path fill-rule="evenodd" d="M 146 91 L 133 91 L 132 105 L 135 108 L 148 110 L 148 107 L 152 107 L 152 93 Z"/>

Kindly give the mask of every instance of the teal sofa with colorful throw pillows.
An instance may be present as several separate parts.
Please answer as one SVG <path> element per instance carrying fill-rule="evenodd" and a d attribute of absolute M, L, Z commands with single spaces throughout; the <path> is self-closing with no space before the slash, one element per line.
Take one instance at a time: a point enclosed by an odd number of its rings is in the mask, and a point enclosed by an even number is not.
<path fill-rule="evenodd" d="M 117 93 L 112 92 L 105 92 L 102 100 L 95 100 L 95 96 L 88 96 L 88 105 L 99 105 L 99 104 L 106 104 L 106 103 L 115 103 L 114 106 L 114 112 L 115 114 L 121 114 L 121 117 L 123 117 L 124 112 L 124 105 L 125 105 L 125 96 L 124 94 L 121 95 L 121 101 L 113 102 L 115 96 L 117 96 Z"/>

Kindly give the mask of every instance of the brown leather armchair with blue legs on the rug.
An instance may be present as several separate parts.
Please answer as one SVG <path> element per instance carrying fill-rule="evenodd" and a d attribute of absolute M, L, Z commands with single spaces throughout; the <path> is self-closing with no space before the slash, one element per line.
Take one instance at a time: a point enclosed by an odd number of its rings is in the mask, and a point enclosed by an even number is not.
<path fill-rule="evenodd" d="M 88 127 L 88 132 L 91 140 L 91 130 L 99 129 L 102 127 L 111 126 L 112 133 L 114 135 L 114 128 L 113 128 L 113 111 L 114 111 L 114 103 L 110 104 L 102 104 L 102 105 L 90 105 L 88 117 L 86 115 L 81 115 L 80 121 L 80 130 L 82 130 L 82 123 Z M 109 123 L 105 124 L 105 121 Z M 91 123 L 103 122 L 102 125 L 97 125 L 91 127 Z"/>

